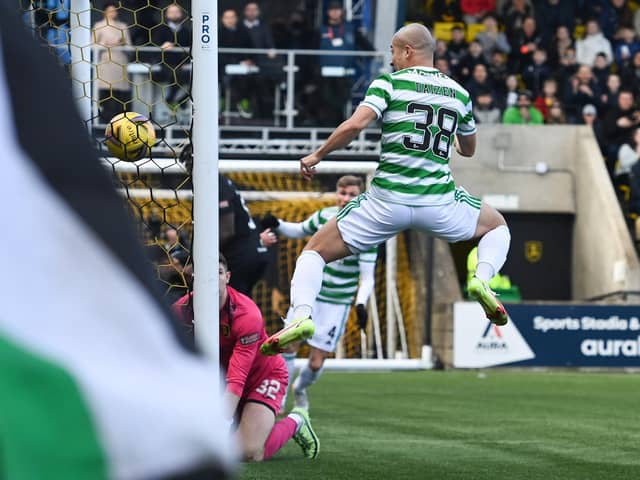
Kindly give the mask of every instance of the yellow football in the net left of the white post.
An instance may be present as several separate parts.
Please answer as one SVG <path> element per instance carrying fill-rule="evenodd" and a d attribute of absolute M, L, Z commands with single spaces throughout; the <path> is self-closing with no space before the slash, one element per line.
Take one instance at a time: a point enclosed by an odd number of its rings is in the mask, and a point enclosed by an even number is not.
<path fill-rule="evenodd" d="M 113 117 L 104 136 L 109 152 L 127 162 L 148 156 L 156 141 L 156 132 L 149 119 L 135 112 L 119 113 Z"/>

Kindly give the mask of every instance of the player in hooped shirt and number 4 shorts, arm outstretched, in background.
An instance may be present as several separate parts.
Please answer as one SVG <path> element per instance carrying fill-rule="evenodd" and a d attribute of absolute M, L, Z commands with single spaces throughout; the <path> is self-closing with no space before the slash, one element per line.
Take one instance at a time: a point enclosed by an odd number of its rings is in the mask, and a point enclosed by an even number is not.
<path fill-rule="evenodd" d="M 324 207 L 303 222 L 286 222 L 270 214 L 262 219 L 265 228 L 275 230 L 288 238 L 303 238 L 313 235 L 335 217 L 351 200 L 364 190 L 360 177 L 345 175 L 336 184 L 336 205 Z M 291 382 L 296 407 L 309 408 L 307 388 L 313 385 L 322 373 L 325 359 L 335 351 L 349 317 L 349 310 L 355 298 L 358 325 L 362 330 L 367 326 L 365 305 L 375 285 L 375 266 L 378 256 L 377 247 L 372 247 L 355 255 L 331 262 L 322 272 L 322 286 L 313 305 L 315 333 L 307 340 L 311 346 L 309 362 L 300 374 Z M 293 320 L 293 309 L 289 309 L 286 323 Z M 297 345 L 283 353 L 289 370 L 289 379 L 293 378 L 293 362 Z"/>

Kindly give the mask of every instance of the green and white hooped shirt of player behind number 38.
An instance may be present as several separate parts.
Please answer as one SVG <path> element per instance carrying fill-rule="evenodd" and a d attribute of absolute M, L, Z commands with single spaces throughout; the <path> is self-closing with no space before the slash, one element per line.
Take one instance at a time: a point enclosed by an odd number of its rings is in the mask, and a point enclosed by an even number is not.
<path fill-rule="evenodd" d="M 321 208 L 302 222 L 302 228 L 308 235 L 313 235 L 320 227 L 335 217 L 339 210 L 337 206 Z M 317 300 L 350 305 L 358 291 L 360 262 L 375 263 L 377 257 L 378 249 L 374 247 L 366 252 L 349 255 L 327 264 L 322 273 L 322 288 Z"/>

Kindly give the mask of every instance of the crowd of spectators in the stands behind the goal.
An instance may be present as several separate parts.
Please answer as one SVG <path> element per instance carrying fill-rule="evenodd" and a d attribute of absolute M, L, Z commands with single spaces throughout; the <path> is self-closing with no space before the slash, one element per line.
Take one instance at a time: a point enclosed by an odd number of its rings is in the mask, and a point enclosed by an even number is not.
<path fill-rule="evenodd" d="M 55 42 L 57 37 L 51 32 L 68 23 L 68 11 L 58 0 L 39 3 L 35 23 L 43 38 Z M 288 4 L 297 7 L 283 13 L 268 0 L 221 2 L 219 46 L 373 49 L 367 26 L 347 21 L 342 1 Z M 319 5 L 324 9 L 319 10 Z M 174 110 L 188 107 L 190 2 L 96 1 L 95 6 L 96 44 L 107 50 L 114 46 L 161 47 L 159 52 L 130 54 L 128 59 L 158 66 L 152 78 L 167 86 L 161 89 L 166 102 Z M 424 0 L 406 6 L 406 21 L 432 28 L 437 38 L 436 66 L 469 91 L 478 123 L 590 125 L 612 181 L 629 187 L 625 191 L 631 196 L 627 195 L 625 205 L 631 214 L 640 213 L 640 145 L 636 142 L 640 127 L 639 2 Z M 129 108 L 134 92 L 131 81 L 121 73 L 127 59 L 118 58 L 117 51 L 103 55 L 108 60 L 100 64 L 103 81 L 98 90 L 105 120 Z M 379 71 L 371 68 L 368 58 L 295 58 L 297 126 L 337 125 L 346 118 L 349 105 L 357 105 L 362 98 L 355 76 L 368 75 L 364 82 L 368 84 Z M 229 65 L 243 65 L 246 70 L 236 68 L 233 73 Z M 226 121 L 224 116 L 232 110 L 237 117 L 234 121 L 240 124 L 273 120 L 277 109 L 274 89 L 284 84 L 284 65 L 283 55 L 220 54 L 222 118 Z M 335 75 L 336 67 L 341 75 Z M 115 71 L 113 78 L 111 70 Z M 327 74 L 329 71 L 333 73 Z"/>

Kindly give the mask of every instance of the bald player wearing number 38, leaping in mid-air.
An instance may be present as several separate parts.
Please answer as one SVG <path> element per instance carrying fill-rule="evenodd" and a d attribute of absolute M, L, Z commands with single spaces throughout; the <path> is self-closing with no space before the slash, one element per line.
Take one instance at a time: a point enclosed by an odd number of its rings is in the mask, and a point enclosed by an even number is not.
<path fill-rule="evenodd" d="M 495 208 L 453 181 L 451 151 L 471 157 L 476 127 L 469 93 L 433 67 L 434 48 L 423 25 L 398 30 L 391 42 L 395 71 L 374 80 L 351 118 L 300 160 L 302 175 L 312 178 L 323 157 L 382 119 L 380 164 L 371 189 L 349 202 L 305 246 L 291 280 L 296 321 L 269 337 L 261 346 L 263 354 L 275 355 L 313 332 L 313 302 L 327 262 L 366 251 L 409 228 L 449 242 L 480 238 L 478 267 L 468 291 L 487 318 L 507 323 L 507 312 L 487 282 L 504 264 L 511 235 Z"/>

